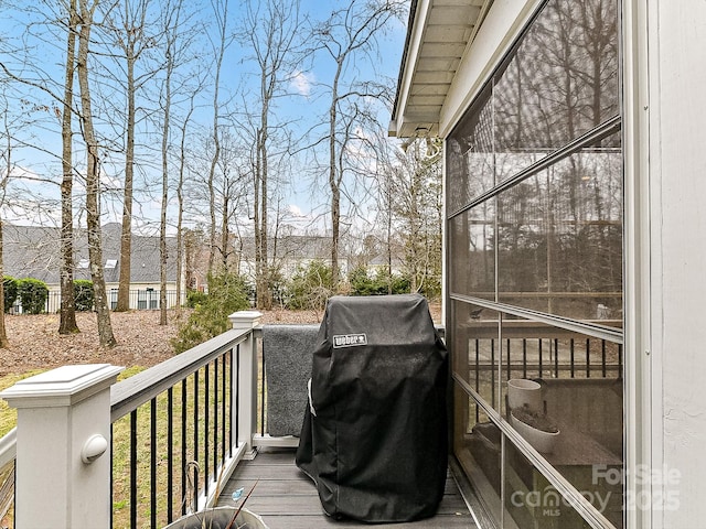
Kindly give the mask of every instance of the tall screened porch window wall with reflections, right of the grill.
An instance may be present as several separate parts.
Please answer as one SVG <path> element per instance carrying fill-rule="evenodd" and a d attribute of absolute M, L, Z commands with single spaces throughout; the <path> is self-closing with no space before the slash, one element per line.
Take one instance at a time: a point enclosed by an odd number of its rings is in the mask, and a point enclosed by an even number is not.
<path fill-rule="evenodd" d="M 617 17 L 545 2 L 447 138 L 454 452 L 499 527 L 623 526 Z"/>

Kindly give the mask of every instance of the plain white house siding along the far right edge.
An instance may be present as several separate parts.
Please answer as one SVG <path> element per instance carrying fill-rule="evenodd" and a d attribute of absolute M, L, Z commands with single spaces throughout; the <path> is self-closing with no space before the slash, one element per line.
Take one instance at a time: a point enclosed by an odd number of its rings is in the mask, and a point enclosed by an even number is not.
<path fill-rule="evenodd" d="M 653 483 L 653 527 L 696 528 L 706 520 L 706 2 L 632 3 L 645 4 L 648 24 L 652 458 L 667 472 Z"/>

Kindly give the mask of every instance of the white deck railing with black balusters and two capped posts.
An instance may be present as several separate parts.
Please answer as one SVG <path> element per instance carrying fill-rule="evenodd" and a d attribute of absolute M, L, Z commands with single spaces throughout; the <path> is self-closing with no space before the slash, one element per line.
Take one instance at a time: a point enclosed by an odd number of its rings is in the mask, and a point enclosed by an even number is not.
<path fill-rule="evenodd" d="M 233 328 L 226 333 L 117 384 L 121 367 L 109 364 L 64 366 L 24 379 L 0 392 L 0 397 L 18 409 L 18 428 L 0 440 L 0 477 L 3 468 L 12 469 L 13 463 L 15 469 L 14 527 L 110 527 L 114 510 L 110 487 L 115 476 L 111 478 L 109 449 L 116 442 L 114 423 L 125 415 L 130 417 L 130 472 L 137 473 L 141 454 L 137 455 L 137 433 L 132 429 L 137 423 L 138 409 L 151 406 L 154 412 L 158 398 L 164 393 L 169 393 L 171 402 L 172 389 L 182 387 L 185 392 L 189 377 L 192 380 L 190 391 L 192 388 L 197 391 L 199 373 L 203 369 L 205 376 L 202 375 L 201 384 L 205 388 L 205 397 L 194 393 L 194 399 L 206 408 L 206 424 L 210 415 L 216 424 L 211 425 L 213 433 L 203 430 L 204 410 L 199 410 L 196 403 L 193 442 L 205 441 L 205 447 L 201 444 L 195 449 L 191 446 L 189 454 L 185 447 L 180 450 L 186 458 L 203 460 L 205 456 L 206 462 L 203 475 L 195 481 L 197 490 L 193 500 L 188 504 L 195 509 L 213 505 L 217 499 L 218 485 L 225 484 L 237 463 L 254 454 L 256 443 L 268 444 L 263 435 L 257 435 L 256 440 L 258 347 L 254 330 L 259 317 L 260 314 L 253 311 L 235 313 L 229 317 Z M 211 373 L 210 366 L 213 366 Z M 217 377 L 218 369 L 223 371 L 221 377 Z M 216 392 L 215 397 L 213 393 L 210 396 L 210 388 Z M 159 402 L 163 406 L 161 400 Z M 215 407 L 212 411 L 208 411 L 210 403 Z M 185 417 L 186 411 L 182 413 Z M 172 414 L 170 408 L 169 415 Z M 153 435 L 148 451 L 152 458 L 150 477 L 153 477 L 162 463 L 158 463 L 156 454 L 157 420 L 153 415 L 150 420 Z M 181 429 L 185 431 L 185 423 Z M 201 434 L 199 429 L 202 429 Z M 168 450 L 170 461 L 171 453 L 175 451 Z M 179 474 L 180 466 L 183 467 L 181 460 L 174 464 L 173 474 Z M 182 476 L 189 478 L 185 472 Z M 130 482 L 137 484 L 138 479 L 148 478 L 131 475 Z M 171 482 L 171 474 L 169 479 Z M 0 489 L 2 485 L 0 483 Z M 183 483 L 174 485 L 174 490 L 168 494 L 181 497 L 184 486 Z M 151 520 L 140 518 L 139 522 L 137 509 L 143 498 L 135 489 L 130 492 L 130 526 L 147 522 L 161 527 L 178 518 L 180 511 L 189 510 L 184 504 L 176 503 L 169 514 L 157 512 L 158 509 L 163 510 L 163 501 L 154 499 L 157 485 L 153 484 L 151 489 L 152 501 L 146 509 Z"/>

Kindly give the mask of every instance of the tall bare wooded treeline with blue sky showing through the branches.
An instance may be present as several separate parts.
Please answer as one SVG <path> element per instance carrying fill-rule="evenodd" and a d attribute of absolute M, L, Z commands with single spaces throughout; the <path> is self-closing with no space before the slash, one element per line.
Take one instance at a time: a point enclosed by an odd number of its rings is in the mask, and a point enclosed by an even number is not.
<path fill-rule="evenodd" d="M 329 237 L 333 291 L 343 251 L 363 267 L 385 256 L 387 274 L 402 270 L 413 290 L 438 283 L 438 148 L 403 151 L 386 138 L 397 66 L 379 64 L 389 32 L 405 32 L 407 3 L 333 2 L 322 15 L 298 0 L 1 2 L 0 227 L 61 226 L 60 332 L 78 331 L 81 227 L 100 343 L 116 342 L 103 278 L 109 219 L 122 224 L 118 311 L 136 230 L 160 237 L 162 295 L 170 234 L 179 252 L 203 249 L 206 276 L 239 273 L 254 248 L 247 279 L 263 309 L 286 234 Z M 289 207 L 295 192 L 311 214 Z"/>

